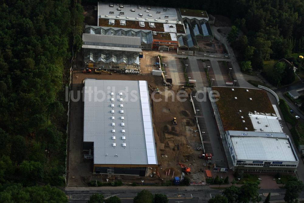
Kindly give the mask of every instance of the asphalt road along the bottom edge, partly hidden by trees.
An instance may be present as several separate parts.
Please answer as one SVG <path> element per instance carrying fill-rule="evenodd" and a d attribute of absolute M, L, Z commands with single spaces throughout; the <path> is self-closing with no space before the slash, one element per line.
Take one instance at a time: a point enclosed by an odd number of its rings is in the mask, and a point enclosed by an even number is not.
<path fill-rule="evenodd" d="M 141 190 L 85 190 L 85 191 L 64 191 L 65 194 L 69 195 L 69 202 L 87 202 L 92 194 L 102 193 L 105 197 L 110 197 L 112 195 L 117 195 L 123 203 L 131 203 L 133 202 L 133 198 L 136 196 L 138 192 Z M 152 194 L 162 193 L 168 196 L 169 202 L 182 202 L 182 203 L 205 203 L 216 194 L 222 194 L 222 190 L 149 190 Z M 263 193 L 272 194 L 278 193 L 279 196 L 271 197 L 271 201 L 283 200 L 285 195 L 284 189 L 262 189 L 259 190 L 259 195 L 262 197 L 264 201 L 265 197 Z M 304 192 L 300 194 L 300 199 L 304 198 Z"/>

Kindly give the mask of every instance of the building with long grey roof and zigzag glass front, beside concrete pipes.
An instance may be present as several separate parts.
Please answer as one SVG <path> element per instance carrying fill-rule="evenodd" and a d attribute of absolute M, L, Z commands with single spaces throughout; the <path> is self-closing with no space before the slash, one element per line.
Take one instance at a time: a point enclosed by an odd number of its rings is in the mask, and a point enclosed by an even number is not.
<path fill-rule="evenodd" d="M 84 67 L 140 69 L 140 37 L 82 34 Z"/>

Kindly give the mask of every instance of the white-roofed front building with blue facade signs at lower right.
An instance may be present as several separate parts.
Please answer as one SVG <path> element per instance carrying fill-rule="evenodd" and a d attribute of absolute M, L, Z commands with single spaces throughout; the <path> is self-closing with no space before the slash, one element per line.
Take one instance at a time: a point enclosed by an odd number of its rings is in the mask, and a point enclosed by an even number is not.
<path fill-rule="evenodd" d="M 285 133 L 225 132 L 233 166 L 259 172 L 295 172 L 299 159 Z"/>

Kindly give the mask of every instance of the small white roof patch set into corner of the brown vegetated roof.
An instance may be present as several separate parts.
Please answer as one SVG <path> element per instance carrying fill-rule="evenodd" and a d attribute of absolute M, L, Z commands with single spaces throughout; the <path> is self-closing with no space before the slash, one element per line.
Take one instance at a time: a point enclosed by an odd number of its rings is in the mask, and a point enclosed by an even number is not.
<path fill-rule="evenodd" d="M 283 133 L 283 129 L 277 116 L 249 114 L 249 117 L 255 131 Z"/>

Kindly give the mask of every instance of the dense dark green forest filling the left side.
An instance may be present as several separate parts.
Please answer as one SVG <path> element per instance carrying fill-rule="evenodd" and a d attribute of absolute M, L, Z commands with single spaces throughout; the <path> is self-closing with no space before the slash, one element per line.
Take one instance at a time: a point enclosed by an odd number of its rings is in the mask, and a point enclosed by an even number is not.
<path fill-rule="evenodd" d="M 57 188 L 36 185 L 65 185 L 64 74 L 81 45 L 83 8 L 2 0 L 0 18 L 0 202 L 36 202 L 34 191 L 62 202 Z"/>

